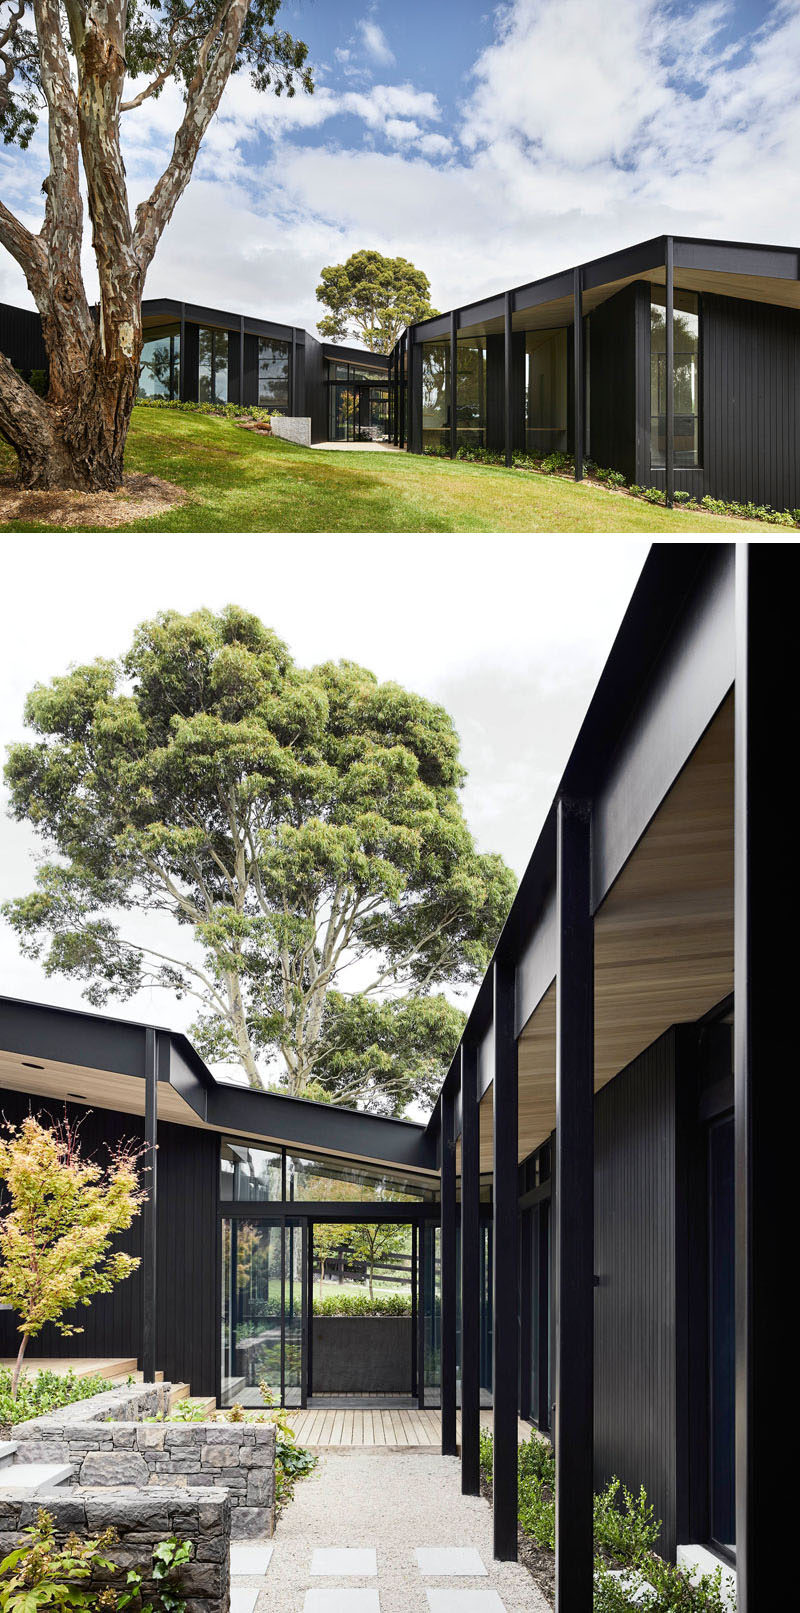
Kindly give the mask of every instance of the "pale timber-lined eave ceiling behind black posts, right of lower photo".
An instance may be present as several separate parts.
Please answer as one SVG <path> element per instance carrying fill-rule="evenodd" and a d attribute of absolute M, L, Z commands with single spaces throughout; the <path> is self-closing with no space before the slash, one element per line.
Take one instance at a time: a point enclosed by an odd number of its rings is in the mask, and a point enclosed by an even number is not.
<path fill-rule="evenodd" d="M 595 915 L 595 1090 L 734 989 L 734 697 Z M 555 1126 L 555 982 L 518 1040 L 519 1158 Z M 492 1168 L 492 1089 L 481 1169 Z"/>

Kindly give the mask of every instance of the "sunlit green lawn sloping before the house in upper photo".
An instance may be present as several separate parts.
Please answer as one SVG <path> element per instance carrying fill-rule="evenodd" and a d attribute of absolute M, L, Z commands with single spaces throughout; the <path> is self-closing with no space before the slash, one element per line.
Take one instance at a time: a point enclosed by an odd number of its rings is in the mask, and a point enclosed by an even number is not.
<path fill-rule="evenodd" d="M 0 445 L 3 447 L 3 445 Z M 0 469 L 13 463 L 10 450 Z M 556 476 L 408 453 L 326 453 L 227 419 L 134 410 L 126 468 L 177 482 L 190 502 L 123 532 L 692 532 L 769 531 L 647 505 Z M 58 531 L 13 523 L 5 531 Z M 102 527 L 98 529 L 102 531 Z"/>

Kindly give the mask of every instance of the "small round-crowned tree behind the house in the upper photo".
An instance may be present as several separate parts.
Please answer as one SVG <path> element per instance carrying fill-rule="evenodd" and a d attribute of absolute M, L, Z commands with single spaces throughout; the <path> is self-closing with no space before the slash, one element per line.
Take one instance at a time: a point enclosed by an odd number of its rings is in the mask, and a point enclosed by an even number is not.
<path fill-rule="evenodd" d="M 408 258 L 384 258 L 379 252 L 353 252 L 347 263 L 323 269 L 318 302 L 331 311 L 318 319 L 319 336 L 331 342 L 355 337 L 371 353 L 390 353 L 408 324 L 431 319 L 427 274 Z"/>

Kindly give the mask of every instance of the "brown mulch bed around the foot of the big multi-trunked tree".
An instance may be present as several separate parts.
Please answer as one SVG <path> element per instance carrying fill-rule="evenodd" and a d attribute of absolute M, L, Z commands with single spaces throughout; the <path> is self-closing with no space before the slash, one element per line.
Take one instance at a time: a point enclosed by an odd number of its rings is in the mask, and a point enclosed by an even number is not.
<path fill-rule="evenodd" d="M 185 503 L 189 494 L 160 476 L 126 476 L 116 494 L 26 492 L 13 477 L 0 479 L 0 526 L 11 521 L 42 521 L 48 526 L 82 531 L 97 526 L 110 531 L 127 521 L 144 521 Z"/>

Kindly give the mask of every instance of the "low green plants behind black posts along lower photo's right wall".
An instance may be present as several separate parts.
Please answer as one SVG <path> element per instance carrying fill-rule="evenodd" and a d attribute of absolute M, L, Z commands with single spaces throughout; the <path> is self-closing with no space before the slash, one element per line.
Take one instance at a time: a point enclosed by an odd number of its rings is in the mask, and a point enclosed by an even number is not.
<path fill-rule="evenodd" d="M 492 1498 L 494 1444 L 481 1431 L 481 1479 Z M 550 1605 L 555 1603 L 555 1457 L 532 1432 L 519 1447 L 519 1560 Z M 637 1495 L 611 1479 L 595 1495 L 595 1613 L 729 1613 L 721 1568 L 697 1582 L 655 1552 L 661 1521 L 642 1487 Z"/>

